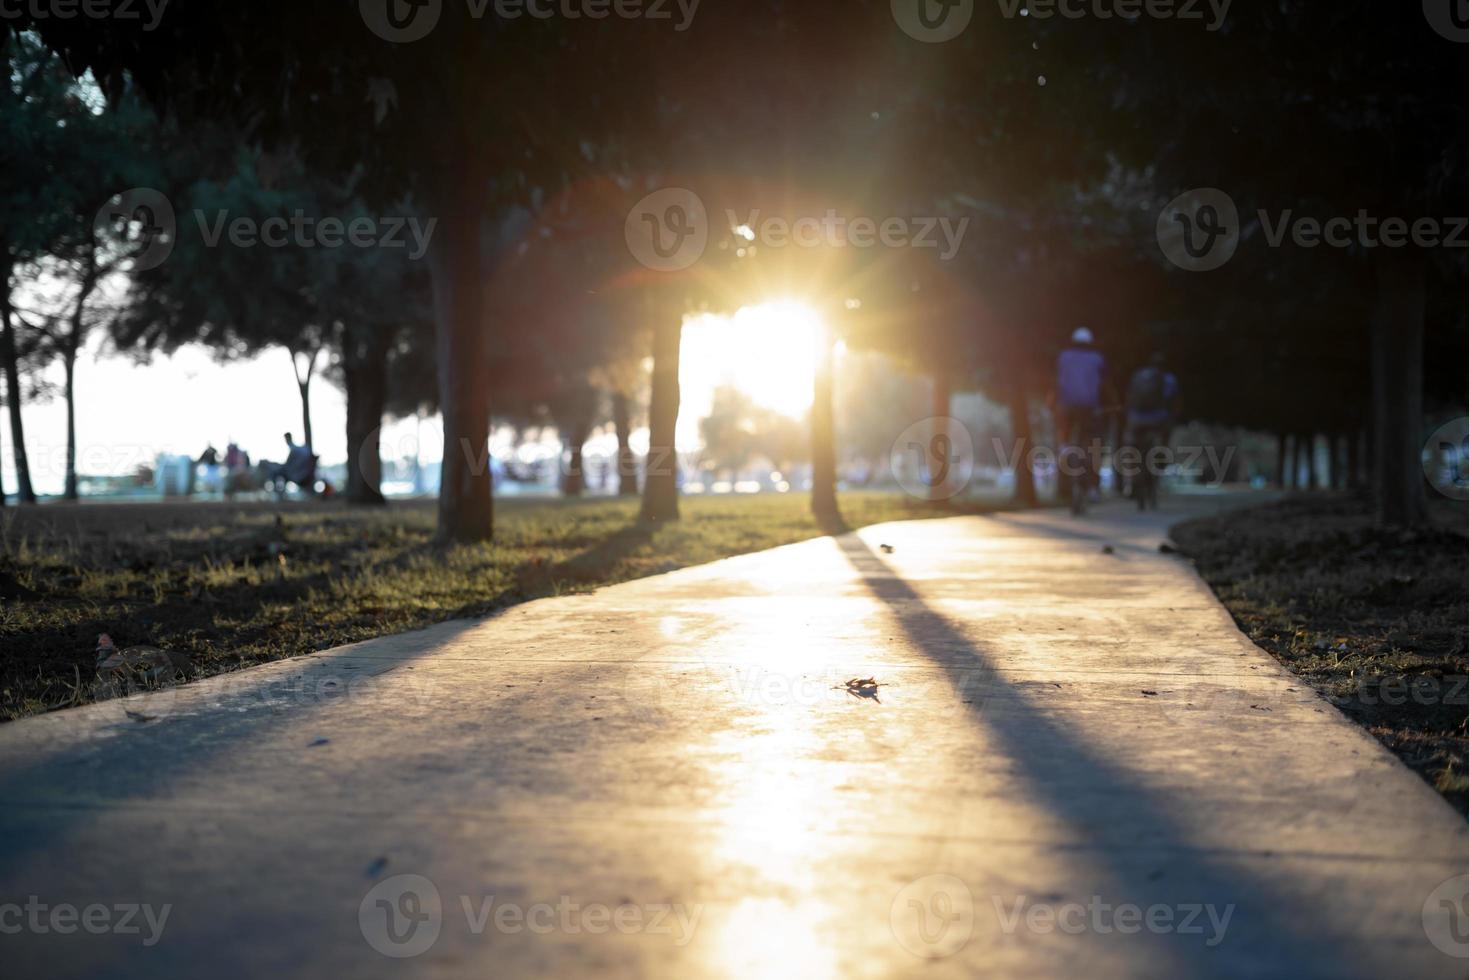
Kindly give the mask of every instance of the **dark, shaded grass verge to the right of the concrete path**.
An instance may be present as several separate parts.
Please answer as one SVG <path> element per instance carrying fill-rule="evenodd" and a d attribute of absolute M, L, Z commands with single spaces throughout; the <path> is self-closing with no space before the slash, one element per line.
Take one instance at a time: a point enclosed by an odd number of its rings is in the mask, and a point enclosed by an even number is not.
<path fill-rule="evenodd" d="M 1240 627 L 1469 815 L 1469 514 L 1302 495 L 1172 530 Z"/>

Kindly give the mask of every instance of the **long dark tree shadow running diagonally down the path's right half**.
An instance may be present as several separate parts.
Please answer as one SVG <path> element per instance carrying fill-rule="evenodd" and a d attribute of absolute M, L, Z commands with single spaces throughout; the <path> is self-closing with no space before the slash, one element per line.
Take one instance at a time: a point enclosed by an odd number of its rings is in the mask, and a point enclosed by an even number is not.
<path fill-rule="evenodd" d="M 1140 779 L 1144 773 L 1125 767 L 1066 730 L 1030 699 L 1021 685 L 1006 682 L 993 657 L 930 608 L 858 535 L 836 541 L 920 652 L 950 673 L 956 655 L 972 657 L 972 666 L 983 671 L 986 682 L 981 696 L 972 691 L 962 693 L 968 698 L 968 710 L 995 748 L 1015 763 L 1030 799 L 1059 817 L 1083 840 L 1081 845 L 1056 845 L 1058 849 L 1075 852 L 1078 867 L 1096 867 L 1109 876 L 1114 893 L 1102 895 L 1100 901 L 1114 907 L 1130 902 L 1144 911 L 1153 905 L 1177 909 L 1183 902 L 1213 904 L 1221 911 L 1228 904 L 1235 907 L 1224 940 L 1213 948 L 1205 945 L 1212 932 L 1206 917 L 1199 918 L 1205 923 L 1203 934 L 1150 933 L 1144 926 L 1137 934 L 1114 937 L 1146 945 L 1137 962 L 1153 961 L 1158 967 L 1168 962 L 1178 976 L 1221 979 L 1246 974 L 1343 977 L 1362 971 L 1360 964 L 1346 958 L 1340 945 L 1322 934 L 1321 923 L 1302 914 L 1293 898 L 1252 877 L 1244 861 L 1269 860 L 1268 851 L 1232 852 L 1200 845 L 1184 818 L 1190 801 L 1149 786 Z M 968 666 L 962 669 L 968 671 Z M 1003 698 L 1002 711 L 984 713 L 992 698 Z M 1099 793 L 1112 796 L 1122 808 L 1119 820 L 1097 811 Z M 1197 802 L 1191 805 L 1199 807 Z M 1111 817 L 1116 813 L 1114 810 Z M 1008 908 L 1018 896 L 995 898 Z M 1072 895 L 1066 901 L 1086 902 L 1089 898 Z M 987 899 L 975 896 L 977 917 L 992 914 Z M 1174 921 L 1181 921 L 1177 911 Z"/>

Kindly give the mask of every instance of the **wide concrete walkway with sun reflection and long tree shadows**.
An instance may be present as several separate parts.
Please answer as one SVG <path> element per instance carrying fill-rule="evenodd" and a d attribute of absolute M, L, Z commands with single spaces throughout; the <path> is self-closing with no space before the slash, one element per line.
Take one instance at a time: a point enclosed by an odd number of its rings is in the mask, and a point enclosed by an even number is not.
<path fill-rule="evenodd" d="M 886 525 L 0 727 L 0 971 L 1463 977 L 1465 821 L 1159 554 L 1180 507 Z"/>

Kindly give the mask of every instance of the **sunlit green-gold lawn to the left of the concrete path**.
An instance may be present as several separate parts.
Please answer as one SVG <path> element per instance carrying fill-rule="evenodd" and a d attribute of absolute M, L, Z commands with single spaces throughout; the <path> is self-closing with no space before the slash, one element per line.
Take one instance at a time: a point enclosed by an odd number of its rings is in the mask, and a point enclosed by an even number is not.
<path fill-rule="evenodd" d="M 97 635 L 188 654 L 195 676 L 824 533 L 802 494 L 497 501 L 489 545 L 436 548 L 432 501 L 82 504 L 0 511 L 0 720 L 91 699 Z M 849 494 L 852 527 L 978 513 Z"/>

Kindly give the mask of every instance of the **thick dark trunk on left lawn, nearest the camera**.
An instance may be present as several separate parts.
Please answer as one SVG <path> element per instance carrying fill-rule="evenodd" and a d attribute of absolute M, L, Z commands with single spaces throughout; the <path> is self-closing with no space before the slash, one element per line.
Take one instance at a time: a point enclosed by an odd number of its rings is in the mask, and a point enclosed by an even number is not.
<path fill-rule="evenodd" d="M 489 463 L 488 335 L 482 267 L 482 175 L 470 154 L 454 160 L 435 201 L 433 313 L 438 338 L 444 469 L 439 483 L 441 541 L 489 541 L 495 529 Z"/>

